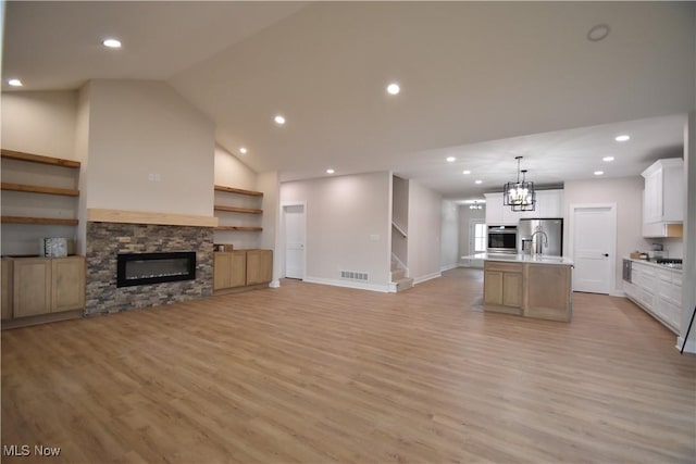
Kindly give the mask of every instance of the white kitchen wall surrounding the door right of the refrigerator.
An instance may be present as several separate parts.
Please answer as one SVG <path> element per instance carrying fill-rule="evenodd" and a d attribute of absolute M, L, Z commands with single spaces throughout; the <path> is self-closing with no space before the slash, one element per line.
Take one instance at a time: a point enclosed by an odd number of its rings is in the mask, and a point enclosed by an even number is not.
<path fill-rule="evenodd" d="M 617 255 L 614 256 L 613 292 L 622 292 L 622 259 L 635 250 L 649 250 L 650 240 L 643 238 L 643 177 L 572 180 L 564 187 L 563 255 L 570 256 L 571 204 L 617 204 Z"/>

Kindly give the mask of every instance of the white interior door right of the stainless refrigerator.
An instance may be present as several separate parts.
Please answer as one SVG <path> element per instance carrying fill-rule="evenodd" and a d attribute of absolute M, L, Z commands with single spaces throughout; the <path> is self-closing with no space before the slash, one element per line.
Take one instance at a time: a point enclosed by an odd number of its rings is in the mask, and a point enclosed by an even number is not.
<path fill-rule="evenodd" d="M 573 206 L 573 290 L 609 293 L 613 284 L 617 241 L 616 208 Z"/>

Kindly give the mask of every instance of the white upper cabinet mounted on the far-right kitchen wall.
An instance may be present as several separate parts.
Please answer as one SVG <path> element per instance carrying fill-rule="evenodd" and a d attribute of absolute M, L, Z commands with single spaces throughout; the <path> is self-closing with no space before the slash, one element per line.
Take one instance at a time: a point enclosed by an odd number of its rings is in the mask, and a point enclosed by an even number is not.
<path fill-rule="evenodd" d="M 681 223 L 684 220 L 683 160 L 658 160 L 642 176 L 645 178 L 643 223 Z"/>

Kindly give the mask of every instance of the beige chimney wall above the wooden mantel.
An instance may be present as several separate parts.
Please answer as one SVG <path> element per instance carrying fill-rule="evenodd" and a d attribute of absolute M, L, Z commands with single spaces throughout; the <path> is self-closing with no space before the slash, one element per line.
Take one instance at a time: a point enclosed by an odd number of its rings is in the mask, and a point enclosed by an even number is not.
<path fill-rule="evenodd" d="M 87 208 L 213 215 L 213 124 L 169 85 L 92 80 L 88 143 Z"/>

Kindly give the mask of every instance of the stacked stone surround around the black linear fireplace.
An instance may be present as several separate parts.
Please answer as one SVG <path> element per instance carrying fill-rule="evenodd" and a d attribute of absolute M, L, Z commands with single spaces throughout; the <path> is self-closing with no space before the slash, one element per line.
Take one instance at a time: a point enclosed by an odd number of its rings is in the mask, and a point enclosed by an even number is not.
<path fill-rule="evenodd" d="M 213 228 L 88 221 L 85 315 L 175 303 L 213 291 Z M 196 279 L 116 287 L 119 253 L 196 251 Z"/>

